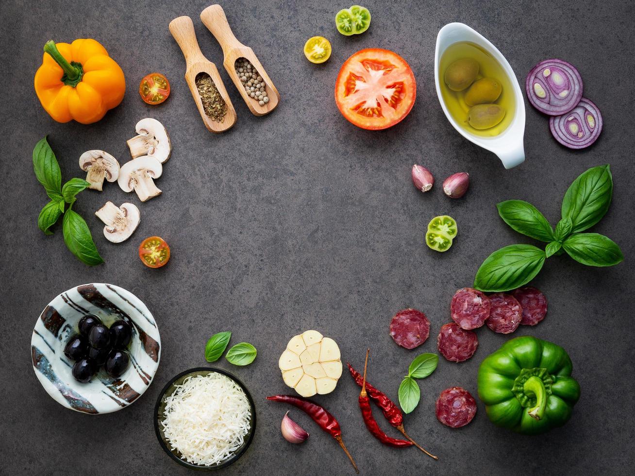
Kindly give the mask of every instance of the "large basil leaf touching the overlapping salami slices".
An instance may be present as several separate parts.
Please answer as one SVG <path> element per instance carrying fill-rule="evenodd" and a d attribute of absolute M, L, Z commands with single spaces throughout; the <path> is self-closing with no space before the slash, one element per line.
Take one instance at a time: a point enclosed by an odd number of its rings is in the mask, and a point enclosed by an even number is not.
<path fill-rule="evenodd" d="M 474 276 L 474 287 L 499 292 L 530 282 L 545 262 L 545 252 L 532 245 L 509 245 L 489 255 Z"/>

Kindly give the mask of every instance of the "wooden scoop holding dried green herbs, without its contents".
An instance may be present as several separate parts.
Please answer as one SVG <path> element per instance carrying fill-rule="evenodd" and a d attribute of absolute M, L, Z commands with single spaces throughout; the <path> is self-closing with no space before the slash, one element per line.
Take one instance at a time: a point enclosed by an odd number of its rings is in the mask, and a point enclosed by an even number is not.
<path fill-rule="evenodd" d="M 229 95 L 227 95 L 227 90 L 225 89 L 222 79 L 220 79 L 216 65 L 201 53 L 201 48 L 199 48 L 196 41 L 192 18 L 178 17 L 172 20 L 170 22 L 170 33 L 174 39 L 177 40 L 178 46 L 181 47 L 181 51 L 183 51 L 183 55 L 185 56 L 185 82 L 190 86 L 190 92 L 192 92 L 192 97 L 194 98 L 194 102 L 196 102 L 196 107 L 198 107 L 201 113 L 201 118 L 203 118 L 203 123 L 206 128 L 210 132 L 223 132 L 231 128 L 231 126 L 236 123 L 234 105 L 232 105 L 231 99 L 229 99 Z M 225 104 L 227 104 L 227 113 L 220 122 L 211 119 L 210 116 L 205 114 L 205 110 L 203 109 L 203 101 L 196 87 L 196 76 L 201 72 L 210 75 L 218 93 L 220 93 L 220 97 L 222 97 Z"/>

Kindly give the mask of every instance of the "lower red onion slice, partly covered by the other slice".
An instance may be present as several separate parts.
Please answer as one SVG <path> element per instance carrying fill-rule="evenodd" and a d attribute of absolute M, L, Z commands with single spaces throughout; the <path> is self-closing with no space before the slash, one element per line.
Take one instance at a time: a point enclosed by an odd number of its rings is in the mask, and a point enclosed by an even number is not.
<path fill-rule="evenodd" d="M 549 128 L 563 146 L 584 149 L 598 140 L 602 132 L 602 114 L 598 106 L 583 97 L 573 111 L 549 118 Z"/>

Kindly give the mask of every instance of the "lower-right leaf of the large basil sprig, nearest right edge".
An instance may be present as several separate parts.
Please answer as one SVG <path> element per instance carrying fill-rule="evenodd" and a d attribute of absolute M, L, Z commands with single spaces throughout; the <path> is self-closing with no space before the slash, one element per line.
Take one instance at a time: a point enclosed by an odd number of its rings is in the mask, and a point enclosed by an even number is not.
<path fill-rule="evenodd" d="M 613 266 L 624 259 L 615 241 L 598 233 L 569 236 L 562 246 L 570 257 L 587 266 Z"/>

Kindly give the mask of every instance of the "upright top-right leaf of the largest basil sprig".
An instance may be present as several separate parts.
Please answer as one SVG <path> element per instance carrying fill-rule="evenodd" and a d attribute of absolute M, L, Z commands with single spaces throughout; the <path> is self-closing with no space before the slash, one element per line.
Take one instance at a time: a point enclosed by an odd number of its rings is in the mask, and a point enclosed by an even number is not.
<path fill-rule="evenodd" d="M 565 193 L 562 217 L 573 223 L 571 233 L 590 228 L 600 221 L 611 204 L 613 177 L 609 165 L 589 168 Z"/>

